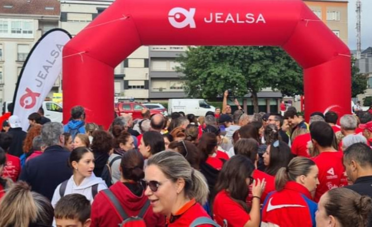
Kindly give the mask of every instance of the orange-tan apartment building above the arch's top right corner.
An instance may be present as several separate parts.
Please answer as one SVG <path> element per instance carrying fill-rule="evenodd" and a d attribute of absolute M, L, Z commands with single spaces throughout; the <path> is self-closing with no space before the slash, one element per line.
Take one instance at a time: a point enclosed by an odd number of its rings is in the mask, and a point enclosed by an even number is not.
<path fill-rule="evenodd" d="M 313 10 L 319 20 L 348 45 L 347 0 L 304 0 L 304 2 Z"/>

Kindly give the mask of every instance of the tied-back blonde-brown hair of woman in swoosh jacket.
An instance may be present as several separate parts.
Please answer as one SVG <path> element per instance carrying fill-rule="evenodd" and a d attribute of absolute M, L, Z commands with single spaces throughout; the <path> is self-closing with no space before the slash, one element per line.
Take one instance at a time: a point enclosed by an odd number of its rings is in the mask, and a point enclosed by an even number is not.
<path fill-rule="evenodd" d="M 295 157 L 290 160 L 287 167 L 282 167 L 278 170 L 275 176 L 275 189 L 280 191 L 288 181 L 296 181 L 296 178 L 310 173 L 311 167 L 315 166 L 315 162 L 305 157 Z"/>

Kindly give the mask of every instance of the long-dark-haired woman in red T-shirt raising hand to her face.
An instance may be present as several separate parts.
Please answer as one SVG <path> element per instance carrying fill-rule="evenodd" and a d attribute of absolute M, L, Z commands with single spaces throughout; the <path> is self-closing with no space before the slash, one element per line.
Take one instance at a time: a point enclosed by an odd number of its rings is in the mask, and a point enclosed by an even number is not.
<path fill-rule="evenodd" d="M 218 194 L 213 202 L 213 217 L 220 226 L 259 226 L 260 199 L 266 182 L 252 178 L 254 169 L 251 160 L 240 154 L 231 157 L 222 168 L 216 184 Z M 253 184 L 253 199 L 252 206 L 248 207 L 250 184 Z"/>

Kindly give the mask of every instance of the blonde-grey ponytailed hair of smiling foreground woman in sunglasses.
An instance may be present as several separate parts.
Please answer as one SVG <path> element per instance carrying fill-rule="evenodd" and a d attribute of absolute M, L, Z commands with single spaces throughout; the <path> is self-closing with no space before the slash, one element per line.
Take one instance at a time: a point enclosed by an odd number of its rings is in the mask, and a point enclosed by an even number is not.
<path fill-rule="evenodd" d="M 207 201 L 209 189 L 205 177 L 198 170 L 194 170 L 182 154 L 173 151 L 159 152 L 148 159 L 147 166 L 150 165 L 159 167 L 173 182 L 179 178 L 184 179 L 183 190 L 189 199 L 195 198 L 200 204 Z"/>

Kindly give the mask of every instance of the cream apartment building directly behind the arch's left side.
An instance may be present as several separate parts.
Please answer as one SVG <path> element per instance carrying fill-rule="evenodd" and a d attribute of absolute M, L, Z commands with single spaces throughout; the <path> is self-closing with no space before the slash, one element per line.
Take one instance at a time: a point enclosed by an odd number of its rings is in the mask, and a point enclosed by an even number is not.
<path fill-rule="evenodd" d="M 78 34 L 114 0 L 60 0 L 60 27 Z M 115 100 L 148 98 L 148 47 L 142 46 L 121 62 L 114 70 Z"/>

